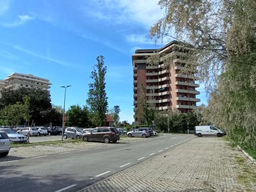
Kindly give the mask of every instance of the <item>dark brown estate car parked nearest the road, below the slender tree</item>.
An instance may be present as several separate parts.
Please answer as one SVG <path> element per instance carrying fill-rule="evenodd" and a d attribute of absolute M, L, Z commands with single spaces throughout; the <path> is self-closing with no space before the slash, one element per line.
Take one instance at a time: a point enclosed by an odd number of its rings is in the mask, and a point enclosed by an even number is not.
<path fill-rule="evenodd" d="M 114 127 L 96 127 L 89 133 L 82 135 L 82 140 L 87 141 L 104 141 L 105 143 L 116 143 L 120 140 L 119 132 Z"/>

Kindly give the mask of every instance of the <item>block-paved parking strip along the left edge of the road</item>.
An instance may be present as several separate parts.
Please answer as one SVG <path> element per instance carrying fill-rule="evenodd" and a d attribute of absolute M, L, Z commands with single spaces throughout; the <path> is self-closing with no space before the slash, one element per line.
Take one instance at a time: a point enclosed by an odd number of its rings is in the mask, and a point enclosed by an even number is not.
<path fill-rule="evenodd" d="M 121 143 L 131 143 L 137 141 L 145 140 L 144 138 L 129 138 L 123 137 L 115 144 Z M 54 144 L 42 144 L 34 146 L 23 146 L 23 147 L 12 147 L 9 155 L 7 157 L 0 158 L 0 162 L 12 161 L 23 158 L 44 156 L 56 153 L 64 153 L 78 150 L 86 150 L 89 148 L 108 146 L 113 143 L 103 143 L 103 142 L 66 142 L 66 143 L 54 143 Z"/>

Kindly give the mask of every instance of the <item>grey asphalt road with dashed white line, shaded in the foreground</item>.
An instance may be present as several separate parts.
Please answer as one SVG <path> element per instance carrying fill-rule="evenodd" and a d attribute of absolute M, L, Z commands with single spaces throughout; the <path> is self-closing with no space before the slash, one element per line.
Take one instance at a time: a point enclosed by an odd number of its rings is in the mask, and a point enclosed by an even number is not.
<path fill-rule="evenodd" d="M 76 191 L 170 150 L 194 135 L 164 135 L 131 143 L 0 163 L 0 191 Z"/>

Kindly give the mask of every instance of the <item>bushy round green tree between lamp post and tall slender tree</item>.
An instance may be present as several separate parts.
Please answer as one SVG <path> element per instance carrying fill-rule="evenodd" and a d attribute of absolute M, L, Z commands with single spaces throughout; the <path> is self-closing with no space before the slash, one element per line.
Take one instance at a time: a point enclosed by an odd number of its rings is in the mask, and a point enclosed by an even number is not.
<path fill-rule="evenodd" d="M 90 113 L 87 106 L 71 105 L 67 111 L 69 116 L 69 126 L 88 127 L 91 124 L 89 117 Z M 66 115 L 67 116 L 67 115 Z"/>

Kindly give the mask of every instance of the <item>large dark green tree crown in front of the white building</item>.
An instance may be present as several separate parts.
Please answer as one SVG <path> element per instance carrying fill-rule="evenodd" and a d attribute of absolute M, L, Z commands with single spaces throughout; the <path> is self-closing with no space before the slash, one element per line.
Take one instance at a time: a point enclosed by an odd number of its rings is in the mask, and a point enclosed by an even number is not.
<path fill-rule="evenodd" d="M 23 98 L 28 96 L 30 98 L 30 119 L 34 120 L 36 124 L 44 123 L 40 114 L 42 111 L 51 108 L 51 98 L 47 90 L 34 88 L 19 88 L 17 90 L 3 89 L 1 90 L 1 95 L 0 109 L 17 102 L 23 102 Z"/>

